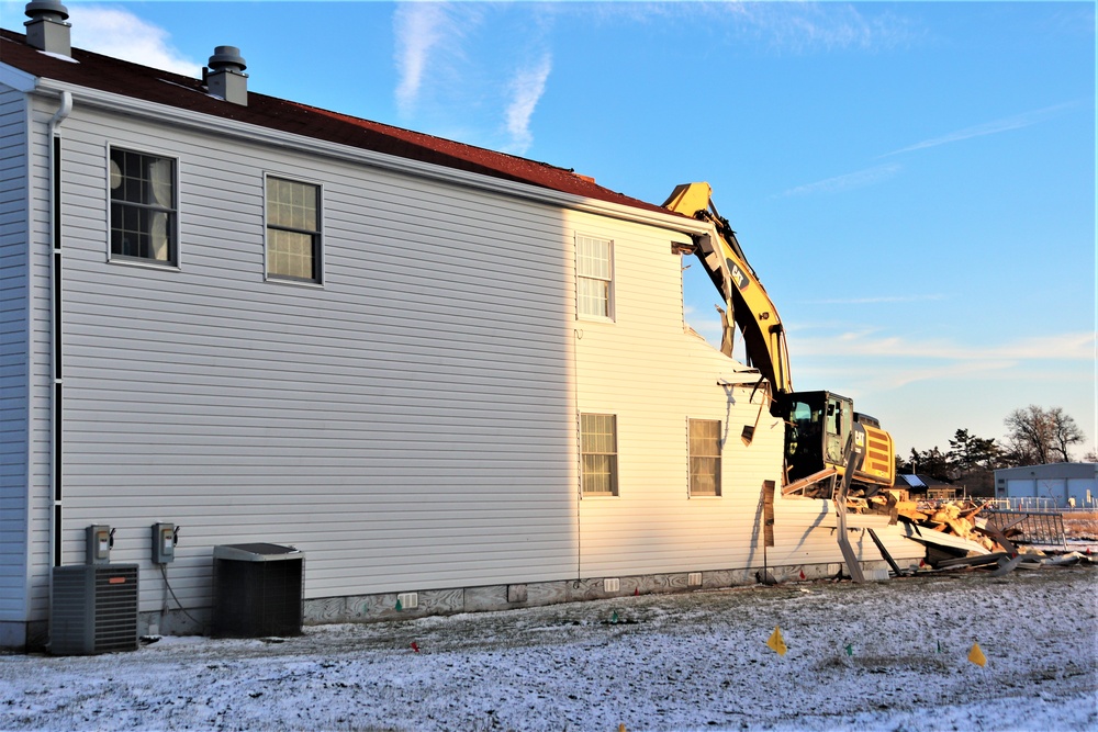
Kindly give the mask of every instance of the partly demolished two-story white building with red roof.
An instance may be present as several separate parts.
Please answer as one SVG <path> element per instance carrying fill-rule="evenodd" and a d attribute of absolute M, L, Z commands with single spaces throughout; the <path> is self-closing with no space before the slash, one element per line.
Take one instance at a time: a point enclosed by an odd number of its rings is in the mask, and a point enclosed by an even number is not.
<path fill-rule="evenodd" d="M 232 47 L 70 48 L 51 5 L 0 33 L 0 643 L 45 641 L 92 525 L 163 633 L 242 542 L 304 552 L 306 622 L 837 571 L 766 385 L 684 322 L 701 222 L 251 92 Z"/>

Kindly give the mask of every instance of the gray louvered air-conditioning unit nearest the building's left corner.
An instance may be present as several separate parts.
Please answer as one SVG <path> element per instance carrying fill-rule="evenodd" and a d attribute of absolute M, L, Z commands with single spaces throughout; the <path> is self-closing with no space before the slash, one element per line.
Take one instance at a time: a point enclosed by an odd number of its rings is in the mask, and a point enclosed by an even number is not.
<path fill-rule="evenodd" d="M 137 565 L 54 567 L 49 652 L 87 655 L 137 649 Z"/>

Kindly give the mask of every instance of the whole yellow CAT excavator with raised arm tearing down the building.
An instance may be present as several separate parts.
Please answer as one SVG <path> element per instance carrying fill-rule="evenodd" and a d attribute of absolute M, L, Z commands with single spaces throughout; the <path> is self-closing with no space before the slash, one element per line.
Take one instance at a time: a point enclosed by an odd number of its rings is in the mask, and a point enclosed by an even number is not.
<path fill-rule="evenodd" d="M 893 439 L 876 419 L 855 413 L 849 397 L 793 391 L 782 318 L 712 196 L 708 183 L 685 183 L 675 188 L 663 207 L 713 226 L 694 236 L 694 254 L 725 301 L 721 352 L 731 356 L 733 326 L 739 328 L 748 365 L 759 369 L 774 390 L 771 412 L 786 423 L 783 493 L 834 475 L 844 476 L 848 485 L 861 484 L 866 495 L 890 487 L 896 473 Z M 856 460 L 850 460 L 851 449 L 860 455 Z M 848 464 L 853 465 L 850 476 L 845 476 Z"/>

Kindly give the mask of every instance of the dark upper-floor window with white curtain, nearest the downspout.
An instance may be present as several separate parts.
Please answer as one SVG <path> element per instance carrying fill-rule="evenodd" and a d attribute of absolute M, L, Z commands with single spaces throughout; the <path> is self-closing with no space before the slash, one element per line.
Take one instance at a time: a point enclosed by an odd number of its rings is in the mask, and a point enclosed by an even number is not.
<path fill-rule="evenodd" d="M 176 161 L 111 148 L 111 257 L 176 263 Z"/>

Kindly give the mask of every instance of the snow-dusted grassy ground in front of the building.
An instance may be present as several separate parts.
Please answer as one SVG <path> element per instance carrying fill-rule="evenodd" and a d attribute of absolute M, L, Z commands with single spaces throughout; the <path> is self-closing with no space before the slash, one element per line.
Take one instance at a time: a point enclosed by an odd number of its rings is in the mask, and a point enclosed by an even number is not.
<path fill-rule="evenodd" d="M 4 655 L 0 729 L 1095 730 L 1096 581 L 954 572 Z"/>

